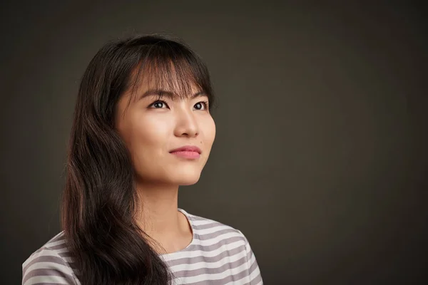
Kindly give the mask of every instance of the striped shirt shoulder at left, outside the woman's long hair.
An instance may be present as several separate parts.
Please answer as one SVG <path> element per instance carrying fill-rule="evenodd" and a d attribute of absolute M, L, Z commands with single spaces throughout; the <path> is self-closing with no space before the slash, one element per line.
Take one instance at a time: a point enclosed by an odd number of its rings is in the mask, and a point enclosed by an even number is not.
<path fill-rule="evenodd" d="M 70 266 L 63 232 L 33 252 L 22 264 L 22 284 L 78 284 Z"/>

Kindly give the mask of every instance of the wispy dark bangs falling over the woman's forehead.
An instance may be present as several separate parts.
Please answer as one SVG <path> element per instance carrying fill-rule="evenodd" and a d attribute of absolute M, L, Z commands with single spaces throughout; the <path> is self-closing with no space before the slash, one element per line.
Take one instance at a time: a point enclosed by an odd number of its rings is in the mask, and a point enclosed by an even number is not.
<path fill-rule="evenodd" d="M 129 89 L 131 100 L 138 97 L 141 86 L 174 94 L 173 99 L 185 99 L 195 92 L 208 96 L 213 106 L 213 90 L 208 69 L 198 55 L 183 43 L 158 41 L 141 46 L 141 57 L 134 68 Z M 160 97 L 162 95 L 160 94 Z"/>

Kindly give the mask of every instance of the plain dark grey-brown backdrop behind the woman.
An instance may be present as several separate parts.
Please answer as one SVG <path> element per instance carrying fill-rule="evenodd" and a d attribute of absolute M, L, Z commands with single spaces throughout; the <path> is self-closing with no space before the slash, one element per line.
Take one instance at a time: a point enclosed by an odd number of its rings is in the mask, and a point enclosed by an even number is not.
<path fill-rule="evenodd" d="M 265 284 L 422 283 L 422 6 L 91 2 L 1 4 L 1 284 L 20 284 L 22 262 L 59 230 L 86 65 L 134 32 L 179 36 L 208 64 L 217 138 L 179 206 L 240 229 Z"/>

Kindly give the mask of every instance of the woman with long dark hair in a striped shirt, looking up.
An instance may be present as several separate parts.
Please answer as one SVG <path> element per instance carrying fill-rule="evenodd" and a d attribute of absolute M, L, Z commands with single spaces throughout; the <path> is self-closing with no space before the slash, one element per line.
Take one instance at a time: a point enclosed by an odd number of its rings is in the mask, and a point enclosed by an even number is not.
<path fill-rule="evenodd" d="M 185 44 L 103 46 L 81 80 L 63 231 L 24 262 L 29 284 L 263 284 L 238 229 L 178 208 L 215 138 L 205 64 Z"/>

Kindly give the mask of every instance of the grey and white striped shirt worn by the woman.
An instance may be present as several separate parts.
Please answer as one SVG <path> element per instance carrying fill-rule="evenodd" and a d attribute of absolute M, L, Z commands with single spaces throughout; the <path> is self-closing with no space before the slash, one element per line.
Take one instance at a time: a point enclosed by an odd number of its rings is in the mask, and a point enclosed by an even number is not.
<path fill-rule="evenodd" d="M 173 284 L 263 285 L 255 254 L 240 230 L 178 210 L 188 218 L 193 239 L 178 252 L 160 255 L 175 276 Z M 22 284 L 81 285 L 63 232 L 24 261 Z"/>

